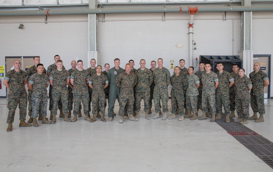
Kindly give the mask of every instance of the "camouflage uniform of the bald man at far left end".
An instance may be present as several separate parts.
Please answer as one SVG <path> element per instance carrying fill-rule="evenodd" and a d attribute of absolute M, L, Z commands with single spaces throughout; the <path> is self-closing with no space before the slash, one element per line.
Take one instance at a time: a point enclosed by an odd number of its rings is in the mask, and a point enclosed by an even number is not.
<path fill-rule="evenodd" d="M 16 72 L 13 70 L 8 71 L 4 78 L 10 85 L 10 92 L 8 93 L 8 118 L 7 123 L 14 121 L 15 110 L 19 103 L 20 120 L 26 120 L 26 105 L 27 94 L 25 89 L 24 80 L 26 80 L 26 72 L 20 70 Z"/>

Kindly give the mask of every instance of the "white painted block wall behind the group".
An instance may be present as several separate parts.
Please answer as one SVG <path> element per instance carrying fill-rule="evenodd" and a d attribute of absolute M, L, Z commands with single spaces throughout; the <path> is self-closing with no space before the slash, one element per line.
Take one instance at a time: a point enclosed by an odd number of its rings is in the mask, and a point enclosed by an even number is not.
<path fill-rule="evenodd" d="M 146 59 L 146 67 L 150 68 L 150 61 L 162 58 L 164 67 L 170 68 L 169 60 L 174 60 L 175 65 L 178 65 L 179 59 L 183 58 L 186 61 L 185 66 L 189 67 L 189 14 L 166 13 L 166 20 L 162 21 L 163 15 L 105 14 L 106 22 L 102 22 L 103 14 L 98 14 L 97 50 L 100 52 L 100 65 L 109 63 L 113 67 L 114 58 L 120 58 L 122 68 L 130 59 L 135 61 L 135 68 L 139 68 L 140 59 Z M 241 47 L 240 13 L 227 13 L 226 21 L 222 20 L 223 15 L 221 12 L 195 14 L 193 40 L 197 49 L 193 50 L 194 58 L 198 57 L 199 60 L 199 55 L 237 55 Z M 273 14 L 253 13 L 253 17 L 256 16 L 272 17 Z M 38 55 L 41 56 L 41 63 L 47 68 L 54 63 L 54 55 L 58 54 L 67 69 L 70 68 L 70 62 L 76 58 L 85 62 L 86 69 L 88 16 L 48 17 L 48 21 L 64 20 L 67 22 L 44 24 L 44 16 L 1 17 L 0 63 L 4 65 L 5 56 Z M 81 22 L 71 22 L 75 20 Z M 30 21 L 33 23 L 24 23 Z M 18 29 L 20 23 L 24 24 L 23 29 Z M 254 54 L 272 54 L 272 25 L 272 19 L 253 19 Z M 232 51 L 233 34 L 235 41 Z M 177 48 L 177 44 L 183 44 L 184 47 Z M 195 67 L 195 63 L 193 65 Z M 198 70 L 198 67 L 195 70 Z M 170 72 L 173 73 L 172 70 Z M 0 96 L 5 96 L 3 85 Z"/>

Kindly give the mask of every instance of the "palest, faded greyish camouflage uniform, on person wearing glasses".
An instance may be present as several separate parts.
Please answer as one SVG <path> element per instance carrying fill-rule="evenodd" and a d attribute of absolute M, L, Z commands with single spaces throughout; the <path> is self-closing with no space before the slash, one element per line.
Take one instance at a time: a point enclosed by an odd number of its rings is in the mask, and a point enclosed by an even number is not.
<path fill-rule="evenodd" d="M 188 86 L 186 89 L 186 106 L 188 111 L 196 113 L 198 112 L 197 96 L 199 94 L 196 84 L 199 84 L 200 81 L 198 76 L 196 76 L 195 74 L 188 75 L 186 79 L 188 80 Z"/>

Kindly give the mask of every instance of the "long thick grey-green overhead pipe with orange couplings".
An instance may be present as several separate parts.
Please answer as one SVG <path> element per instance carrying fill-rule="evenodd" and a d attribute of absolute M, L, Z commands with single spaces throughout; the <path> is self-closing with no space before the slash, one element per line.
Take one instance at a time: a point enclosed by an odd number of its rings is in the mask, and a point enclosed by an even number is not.
<path fill-rule="evenodd" d="M 43 16 L 43 15 L 69 15 L 69 14 L 103 14 L 103 13 L 179 13 L 188 12 L 186 7 L 145 7 L 145 8 L 97 8 L 97 9 L 66 9 L 66 10 L 17 10 L 0 11 L 0 16 Z M 236 11 L 273 11 L 270 6 L 224 6 L 224 7 L 198 7 L 198 12 L 236 12 Z"/>

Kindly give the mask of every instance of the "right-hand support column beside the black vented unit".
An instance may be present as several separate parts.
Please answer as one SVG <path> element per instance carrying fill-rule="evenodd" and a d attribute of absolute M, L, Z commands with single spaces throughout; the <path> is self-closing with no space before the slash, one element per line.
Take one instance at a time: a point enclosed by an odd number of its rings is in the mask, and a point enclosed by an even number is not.
<path fill-rule="evenodd" d="M 242 0 L 242 6 L 251 6 L 251 0 Z M 245 74 L 248 76 L 253 71 L 252 50 L 252 11 L 241 13 L 241 51 L 238 52 L 243 60 Z"/>

